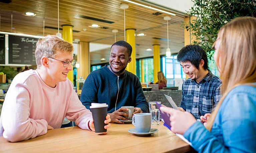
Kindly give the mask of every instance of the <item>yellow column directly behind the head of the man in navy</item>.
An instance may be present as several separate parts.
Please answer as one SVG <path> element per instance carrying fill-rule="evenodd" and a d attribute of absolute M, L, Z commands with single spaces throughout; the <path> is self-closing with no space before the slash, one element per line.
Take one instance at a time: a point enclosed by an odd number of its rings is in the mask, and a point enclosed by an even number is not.
<path fill-rule="evenodd" d="M 136 75 L 136 44 L 135 44 L 135 30 L 126 29 L 126 42 L 133 47 L 131 55 L 132 61 L 128 63 L 126 70 Z"/>

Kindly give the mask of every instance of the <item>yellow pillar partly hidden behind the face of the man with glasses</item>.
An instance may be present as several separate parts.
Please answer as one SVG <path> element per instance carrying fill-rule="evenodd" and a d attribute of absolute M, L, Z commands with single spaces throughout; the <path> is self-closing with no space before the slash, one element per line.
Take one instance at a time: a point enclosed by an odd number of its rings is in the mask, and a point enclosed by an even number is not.
<path fill-rule="evenodd" d="M 62 38 L 73 44 L 73 26 L 72 25 L 61 25 L 62 26 Z M 71 80 L 71 82 L 73 81 L 73 70 L 69 71 L 67 74 L 67 78 Z"/>

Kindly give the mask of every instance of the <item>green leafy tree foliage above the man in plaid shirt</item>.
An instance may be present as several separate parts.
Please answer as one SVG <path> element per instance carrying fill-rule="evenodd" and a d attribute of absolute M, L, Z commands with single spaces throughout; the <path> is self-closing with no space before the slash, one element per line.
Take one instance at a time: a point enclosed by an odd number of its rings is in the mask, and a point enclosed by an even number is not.
<path fill-rule="evenodd" d="M 230 20 L 241 16 L 256 17 L 256 0 L 192 0 L 194 6 L 188 12 L 196 16 L 185 28 L 191 31 L 197 40 L 194 44 L 200 45 L 212 60 L 213 43 L 219 29 Z"/>

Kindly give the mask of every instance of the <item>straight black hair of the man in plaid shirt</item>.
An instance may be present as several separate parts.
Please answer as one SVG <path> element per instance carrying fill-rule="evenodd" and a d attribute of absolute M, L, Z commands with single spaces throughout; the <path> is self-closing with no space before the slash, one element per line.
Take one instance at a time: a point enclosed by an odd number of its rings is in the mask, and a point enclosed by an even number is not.
<path fill-rule="evenodd" d="M 199 45 L 187 45 L 183 47 L 177 55 L 179 62 L 191 62 L 193 66 L 199 69 L 201 60 L 204 60 L 203 68 L 208 70 L 208 59 L 206 52 Z"/>

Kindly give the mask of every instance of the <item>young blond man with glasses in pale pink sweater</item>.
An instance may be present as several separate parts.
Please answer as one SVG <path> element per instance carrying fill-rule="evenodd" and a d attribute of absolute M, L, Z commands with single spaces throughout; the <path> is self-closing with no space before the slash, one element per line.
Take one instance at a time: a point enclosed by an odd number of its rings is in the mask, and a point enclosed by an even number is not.
<path fill-rule="evenodd" d="M 36 70 L 14 77 L 0 117 L 0 136 L 11 142 L 35 138 L 60 128 L 66 117 L 81 129 L 94 131 L 91 112 L 80 102 L 67 79 L 72 70 L 73 46 L 57 36 L 46 36 L 36 44 Z M 104 126 L 110 124 L 106 116 Z"/>

